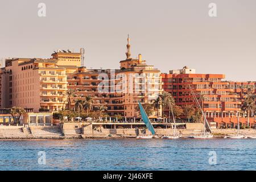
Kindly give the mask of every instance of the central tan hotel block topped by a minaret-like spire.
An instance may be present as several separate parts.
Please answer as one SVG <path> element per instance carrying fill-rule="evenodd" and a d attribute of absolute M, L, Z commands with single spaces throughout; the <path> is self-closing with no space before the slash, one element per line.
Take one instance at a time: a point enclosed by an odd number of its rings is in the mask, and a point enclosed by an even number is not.
<path fill-rule="evenodd" d="M 162 77 L 160 71 L 152 65 L 147 65 L 142 56 L 132 59 L 130 53 L 130 39 L 127 39 L 126 59 L 120 61 L 120 69 L 86 69 L 80 67 L 76 73 L 68 75 L 68 88 L 76 90 L 72 107 L 76 99 L 86 96 L 93 98 L 93 106 L 105 105 L 110 116 L 120 114 L 127 118 L 139 117 L 138 101 L 142 104 L 152 103 L 159 93 L 162 93 Z M 107 77 L 108 86 L 104 92 L 98 90 L 102 82 L 101 75 Z M 144 88 L 145 82 L 154 82 L 153 89 Z M 119 88 L 119 90 L 117 90 Z M 132 89 L 131 89 L 132 88 Z M 137 89 L 136 89 L 137 88 Z M 146 90 L 145 90 L 146 89 Z M 150 117 L 156 118 L 157 111 Z"/>

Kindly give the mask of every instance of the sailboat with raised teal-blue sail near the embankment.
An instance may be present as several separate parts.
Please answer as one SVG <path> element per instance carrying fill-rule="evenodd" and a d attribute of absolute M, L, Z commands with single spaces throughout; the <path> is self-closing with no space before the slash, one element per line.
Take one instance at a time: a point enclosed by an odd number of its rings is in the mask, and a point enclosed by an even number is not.
<path fill-rule="evenodd" d="M 140 134 L 137 136 L 137 138 L 141 138 L 141 139 L 150 139 L 153 138 L 153 135 L 155 135 L 155 130 L 154 127 L 152 126 L 150 120 L 148 119 L 147 113 L 144 110 L 143 106 L 141 105 L 141 102 L 139 102 L 139 110 L 141 110 L 141 116 L 142 116 L 142 120 L 145 123 L 147 129 L 151 132 L 151 135 L 143 135 Z"/>

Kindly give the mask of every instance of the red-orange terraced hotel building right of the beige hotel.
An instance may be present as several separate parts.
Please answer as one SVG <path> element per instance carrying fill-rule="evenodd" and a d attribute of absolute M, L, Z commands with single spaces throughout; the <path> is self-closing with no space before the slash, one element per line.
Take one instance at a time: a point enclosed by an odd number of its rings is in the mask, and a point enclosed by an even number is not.
<path fill-rule="evenodd" d="M 246 86 L 252 85 L 255 93 L 256 83 L 222 81 L 224 78 L 225 75 L 219 74 L 197 74 L 195 69 L 188 67 L 162 74 L 163 89 L 172 94 L 176 105 L 196 106 L 191 94 L 192 89 L 197 99 L 204 97 L 200 104 L 208 121 L 217 122 L 218 127 L 228 127 L 237 123 L 235 118 L 238 112 L 241 122 L 246 123 L 241 105 L 247 93 Z M 254 118 L 250 118 L 250 122 L 255 124 Z"/>

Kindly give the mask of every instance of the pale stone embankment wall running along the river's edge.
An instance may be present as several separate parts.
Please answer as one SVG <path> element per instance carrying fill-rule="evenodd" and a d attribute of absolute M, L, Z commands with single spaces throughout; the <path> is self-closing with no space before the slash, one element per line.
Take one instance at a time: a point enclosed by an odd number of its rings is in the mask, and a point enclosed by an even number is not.
<path fill-rule="evenodd" d="M 97 127 L 96 127 L 97 126 Z M 105 129 L 92 123 L 62 123 L 60 126 L 0 126 L 0 139 L 63 139 L 63 138 L 135 138 L 139 134 L 149 134 L 146 129 Z M 200 132 L 202 123 L 186 123 L 187 129 L 177 129 L 183 137 Z M 214 137 L 237 133 L 236 129 L 213 129 Z M 156 135 L 171 135 L 172 129 L 155 129 Z M 256 136 L 255 129 L 240 130 L 243 135 Z"/>

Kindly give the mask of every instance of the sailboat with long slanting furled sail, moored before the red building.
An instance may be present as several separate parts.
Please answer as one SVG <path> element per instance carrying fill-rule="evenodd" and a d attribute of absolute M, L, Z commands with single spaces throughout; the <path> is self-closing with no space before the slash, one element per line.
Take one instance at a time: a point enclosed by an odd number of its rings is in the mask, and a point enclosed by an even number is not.
<path fill-rule="evenodd" d="M 189 86 L 190 88 L 190 86 Z M 212 134 L 212 130 L 210 129 L 210 125 L 207 121 L 207 118 L 205 116 L 205 113 L 203 111 L 203 109 L 201 108 L 199 101 L 196 98 L 195 93 L 193 92 L 193 90 L 190 88 L 192 96 L 194 98 L 194 100 L 196 101 L 197 106 L 199 107 L 199 109 L 201 110 L 203 117 L 204 117 L 204 129 L 202 133 L 193 133 L 192 136 L 188 137 L 188 138 L 213 138 L 213 134 Z M 207 125 L 209 131 L 207 131 L 207 127 L 205 127 L 205 125 Z"/>

